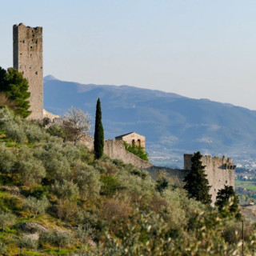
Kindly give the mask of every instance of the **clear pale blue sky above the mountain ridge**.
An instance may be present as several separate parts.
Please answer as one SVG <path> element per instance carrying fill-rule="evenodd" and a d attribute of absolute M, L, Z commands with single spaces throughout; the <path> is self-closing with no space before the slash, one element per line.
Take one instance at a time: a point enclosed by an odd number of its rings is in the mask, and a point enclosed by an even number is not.
<path fill-rule="evenodd" d="M 0 0 L 3 68 L 20 22 L 43 27 L 44 75 L 256 110 L 254 0 Z"/>

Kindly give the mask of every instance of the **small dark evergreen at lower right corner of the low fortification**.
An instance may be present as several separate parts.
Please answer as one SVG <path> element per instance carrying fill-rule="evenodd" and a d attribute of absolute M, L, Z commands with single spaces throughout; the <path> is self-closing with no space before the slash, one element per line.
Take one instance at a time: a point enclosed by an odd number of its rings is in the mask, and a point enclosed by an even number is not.
<path fill-rule="evenodd" d="M 224 189 L 218 190 L 215 206 L 218 207 L 223 217 L 230 215 L 238 219 L 242 217 L 238 209 L 239 198 L 238 195 L 235 194 L 233 186 L 224 186 Z"/>

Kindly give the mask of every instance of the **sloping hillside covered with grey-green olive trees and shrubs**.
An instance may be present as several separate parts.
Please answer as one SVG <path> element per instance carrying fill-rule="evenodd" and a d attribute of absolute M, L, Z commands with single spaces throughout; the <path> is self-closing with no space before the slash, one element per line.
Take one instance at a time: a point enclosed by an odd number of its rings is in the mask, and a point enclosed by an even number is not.
<path fill-rule="evenodd" d="M 242 224 L 184 184 L 63 142 L 0 109 L 0 254 L 241 255 Z M 246 255 L 254 226 L 245 224 Z"/>

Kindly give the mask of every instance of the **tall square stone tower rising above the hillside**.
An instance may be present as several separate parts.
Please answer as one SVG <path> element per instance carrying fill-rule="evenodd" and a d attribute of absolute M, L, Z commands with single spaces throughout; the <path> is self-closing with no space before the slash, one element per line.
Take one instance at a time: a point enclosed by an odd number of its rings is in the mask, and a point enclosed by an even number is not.
<path fill-rule="evenodd" d="M 14 25 L 14 68 L 29 82 L 30 119 L 43 118 L 42 27 Z"/>

